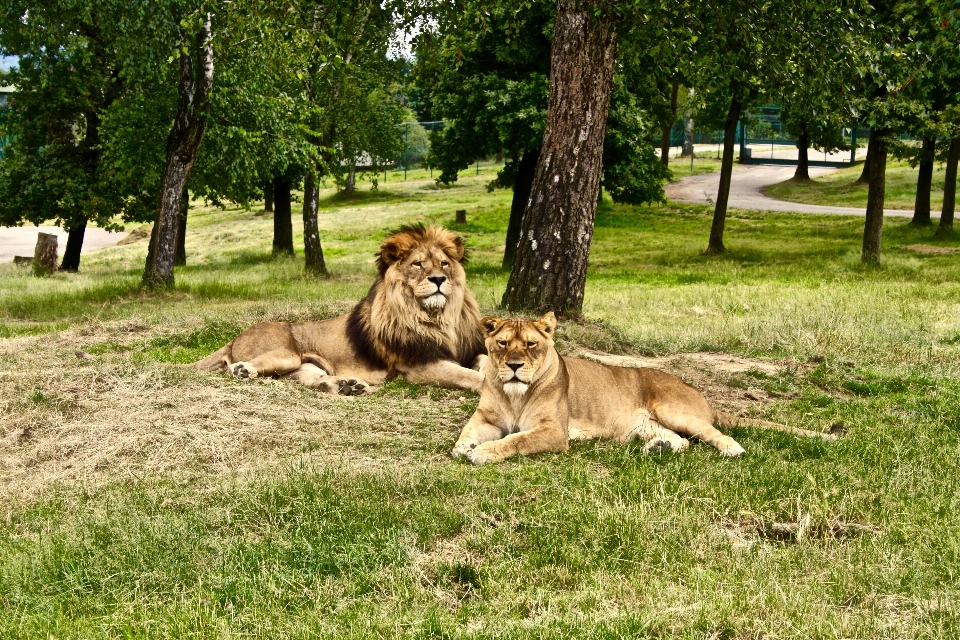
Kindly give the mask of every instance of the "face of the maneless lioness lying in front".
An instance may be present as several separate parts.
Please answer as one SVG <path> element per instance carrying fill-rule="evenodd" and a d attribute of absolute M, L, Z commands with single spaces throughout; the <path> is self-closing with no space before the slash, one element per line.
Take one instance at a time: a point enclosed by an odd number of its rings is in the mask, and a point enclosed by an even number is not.
<path fill-rule="evenodd" d="M 480 320 L 486 337 L 490 366 L 509 396 L 522 396 L 542 375 L 553 353 L 557 319 L 553 312 L 539 320 L 502 320 L 487 316 Z"/>

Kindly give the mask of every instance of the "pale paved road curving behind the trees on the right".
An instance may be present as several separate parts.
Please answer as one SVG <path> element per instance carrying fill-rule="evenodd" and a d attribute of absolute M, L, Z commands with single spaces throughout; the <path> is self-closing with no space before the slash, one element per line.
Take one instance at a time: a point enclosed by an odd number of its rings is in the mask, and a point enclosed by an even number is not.
<path fill-rule="evenodd" d="M 734 165 L 730 181 L 730 199 L 728 205 L 738 209 L 759 209 L 761 211 L 797 211 L 800 213 L 825 213 L 832 215 L 865 215 L 864 209 L 855 207 L 825 207 L 815 204 L 787 202 L 763 195 L 761 189 L 771 184 L 783 182 L 793 177 L 794 167 L 775 165 Z M 832 173 L 832 167 L 810 167 L 810 177 Z M 667 196 L 683 202 L 713 204 L 717 200 L 720 186 L 720 173 L 702 173 L 697 176 L 680 178 L 664 187 Z M 884 209 L 885 216 L 912 217 L 913 211 L 902 209 Z"/>

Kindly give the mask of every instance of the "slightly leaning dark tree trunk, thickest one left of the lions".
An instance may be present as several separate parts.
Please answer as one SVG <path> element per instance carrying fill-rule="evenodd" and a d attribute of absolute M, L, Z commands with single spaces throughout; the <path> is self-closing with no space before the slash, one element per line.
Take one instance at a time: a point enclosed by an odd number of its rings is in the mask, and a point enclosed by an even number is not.
<path fill-rule="evenodd" d="M 189 55 L 180 56 L 177 115 L 167 137 L 167 162 L 160 179 L 155 233 L 143 272 L 143 284 L 151 289 L 174 284 L 180 201 L 207 127 L 206 109 L 212 86 L 213 44 L 207 14 Z"/>

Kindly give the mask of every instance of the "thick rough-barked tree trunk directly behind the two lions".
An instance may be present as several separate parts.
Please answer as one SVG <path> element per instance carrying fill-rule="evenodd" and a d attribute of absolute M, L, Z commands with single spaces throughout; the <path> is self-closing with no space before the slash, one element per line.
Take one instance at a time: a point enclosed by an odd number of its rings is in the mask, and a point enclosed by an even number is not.
<path fill-rule="evenodd" d="M 543 146 L 503 294 L 507 309 L 583 308 L 616 41 L 610 16 L 557 0 Z"/>

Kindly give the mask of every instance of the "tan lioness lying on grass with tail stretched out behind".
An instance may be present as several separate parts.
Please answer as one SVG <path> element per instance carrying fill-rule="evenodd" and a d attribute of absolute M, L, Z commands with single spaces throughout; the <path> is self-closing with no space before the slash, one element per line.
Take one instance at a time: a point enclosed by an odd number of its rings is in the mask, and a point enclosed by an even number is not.
<path fill-rule="evenodd" d="M 646 451 L 683 451 L 693 436 L 720 455 L 743 447 L 718 431 L 721 426 L 756 425 L 833 440 L 836 436 L 716 411 L 699 391 L 656 369 L 629 369 L 561 356 L 553 346 L 557 319 L 501 320 L 485 317 L 489 358 L 480 404 L 460 433 L 455 457 L 474 464 L 515 454 L 566 451 L 569 440 L 640 438 Z"/>

